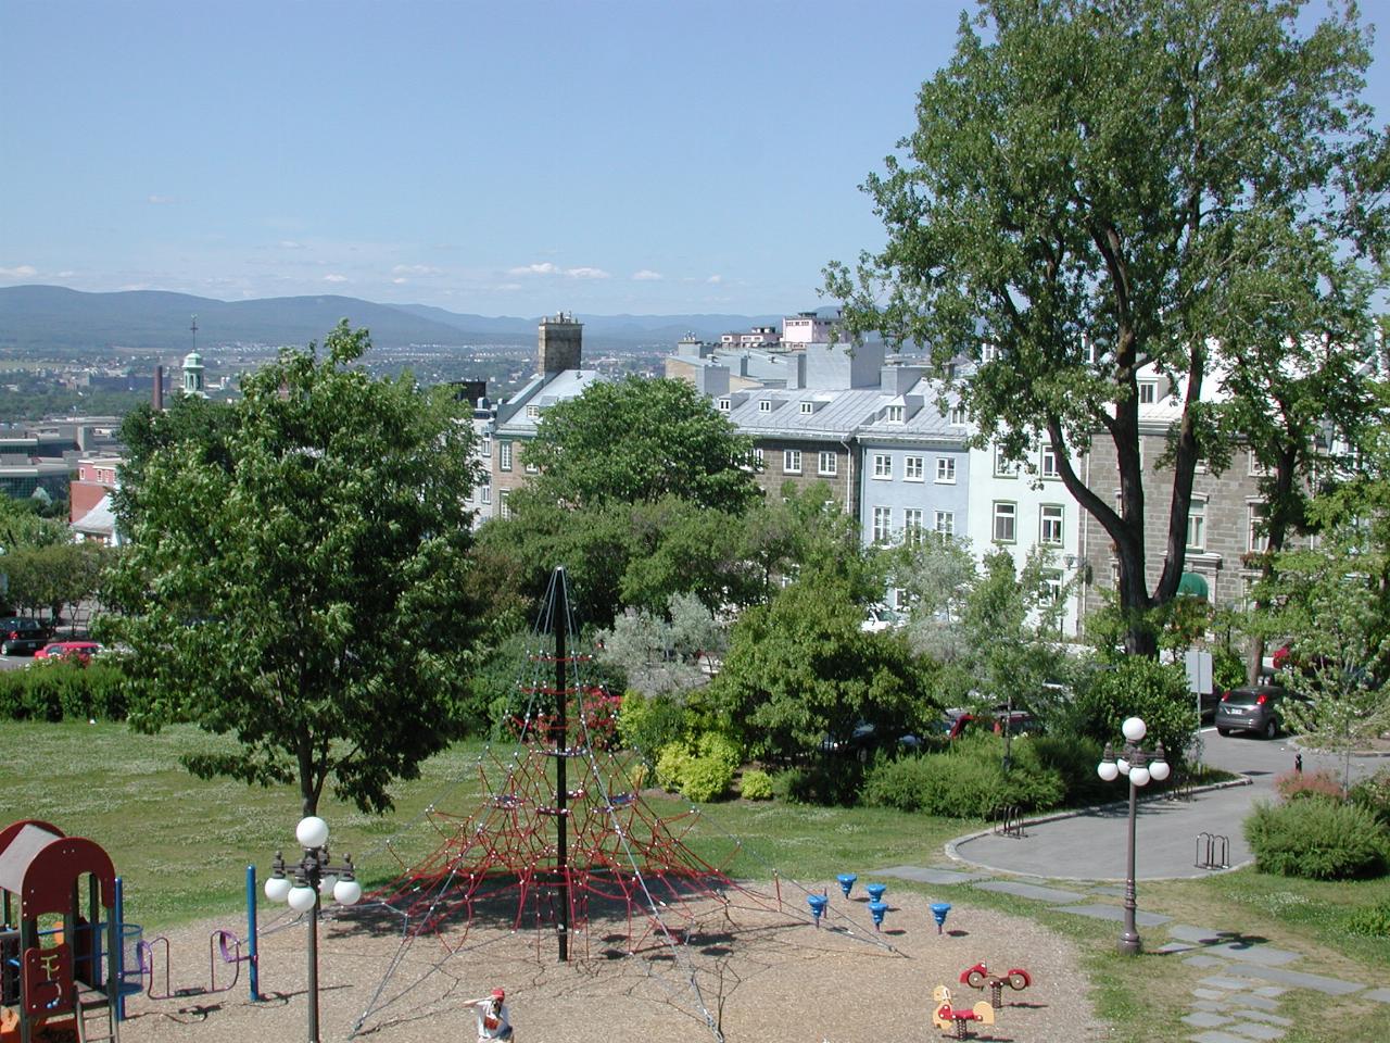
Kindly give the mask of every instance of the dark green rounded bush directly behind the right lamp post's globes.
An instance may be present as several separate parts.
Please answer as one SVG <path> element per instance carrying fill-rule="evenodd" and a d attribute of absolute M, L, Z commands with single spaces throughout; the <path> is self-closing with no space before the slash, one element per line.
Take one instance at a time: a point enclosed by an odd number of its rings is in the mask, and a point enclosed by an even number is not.
<path fill-rule="evenodd" d="M 1068 731 L 1123 745 L 1120 725 L 1143 718 L 1148 726 L 1144 748 L 1162 743 L 1169 763 L 1177 765 L 1197 731 L 1197 711 L 1182 666 L 1163 666 L 1141 655 L 1125 656 L 1113 669 L 1093 674 L 1072 704 Z"/>

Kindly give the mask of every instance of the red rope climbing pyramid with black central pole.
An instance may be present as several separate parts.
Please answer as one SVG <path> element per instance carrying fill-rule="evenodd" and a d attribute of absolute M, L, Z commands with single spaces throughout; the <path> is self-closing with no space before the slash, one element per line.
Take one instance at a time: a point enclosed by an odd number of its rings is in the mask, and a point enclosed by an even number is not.
<path fill-rule="evenodd" d="M 442 943 L 443 957 L 513 940 L 534 944 L 535 958 L 639 958 L 651 980 L 694 1007 L 716 1040 L 717 1021 L 701 992 L 691 950 L 705 933 L 724 932 L 735 909 L 758 909 L 788 926 L 831 926 L 826 897 L 776 873 L 773 894 L 728 876 L 741 848 L 706 861 L 687 847 L 698 808 L 663 818 L 632 783 L 630 762 L 609 747 L 600 690 L 584 680 L 588 655 L 574 654 L 563 569 L 550 577 L 534 637 L 531 676 L 517 686 L 527 700 L 512 719 L 518 748 L 510 759 L 488 751 L 478 773 L 484 797 L 471 811 L 425 812 L 436 847 L 424 858 L 398 855 L 400 875 L 350 909 L 345 921 L 396 916 L 400 947 L 389 961 L 352 1035 L 379 1021 L 424 978 L 404 980 L 407 950 L 418 939 Z M 395 848 L 388 844 L 395 854 Z M 416 847 L 414 850 L 420 850 Z M 796 887 L 809 907 L 783 901 Z M 849 925 L 844 916 L 840 923 Z M 834 926 L 894 951 L 874 932 Z M 400 976 L 402 980 L 393 980 Z"/>

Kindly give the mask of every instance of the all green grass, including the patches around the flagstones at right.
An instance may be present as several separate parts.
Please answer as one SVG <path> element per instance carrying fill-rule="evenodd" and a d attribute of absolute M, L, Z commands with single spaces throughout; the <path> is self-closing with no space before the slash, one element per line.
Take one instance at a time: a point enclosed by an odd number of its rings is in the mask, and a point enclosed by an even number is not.
<path fill-rule="evenodd" d="M 277 848 L 295 847 L 299 798 L 291 787 L 252 789 L 229 780 L 203 782 L 179 766 L 181 754 L 217 748 L 218 740 L 190 726 L 139 736 L 124 725 L 64 722 L 0 723 L 0 826 L 15 819 L 53 822 L 64 832 L 100 843 L 126 882 L 131 921 L 158 933 L 179 921 L 225 915 L 239 933 L 245 919 L 245 871 L 261 875 Z M 510 747 L 507 747 L 507 754 Z M 432 758 L 421 779 L 395 787 L 396 811 L 363 815 L 328 798 L 321 808 L 335 851 L 352 851 L 364 884 L 396 873 L 398 861 L 441 843 L 425 809 L 467 815 L 481 802 L 482 744 L 466 743 Z M 933 865 L 942 844 L 980 827 L 977 822 L 908 815 L 876 808 L 808 808 L 771 802 L 726 802 L 691 808 L 678 798 L 651 801 L 674 819 L 692 822 L 688 843 L 712 862 L 733 857 L 731 872 L 769 879 L 773 872 L 808 884 L 833 884 L 838 872 L 860 876 L 890 865 Z M 391 850 L 386 841 L 392 841 Z M 894 889 L 912 884 L 895 882 Z M 916 889 L 926 891 L 927 889 Z M 1384 983 L 1390 940 L 1351 935 L 1355 908 L 1390 900 L 1390 878 L 1361 883 L 1318 883 L 1238 871 L 1197 880 L 1143 883 L 1141 905 L 1184 923 L 1238 928 L 1305 958 L 1298 969 L 1358 982 Z M 1191 990 L 1209 973 L 1182 957 L 1145 954 L 1137 961 L 1115 954 L 1113 923 L 1068 916 L 1040 903 L 967 887 L 934 887 L 930 894 L 960 904 L 1030 915 L 1073 939 L 1116 1043 L 1175 1039 L 1177 1018 Z M 1118 901 L 1118 900 L 1116 900 Z M 965 915 L 965 914 L 962 914 Z M 966 926 L 963 921 L 960 926 Z M 1144 932 L 1150 947 L 1166 936 Z M 1019 955 L 1027 967 L 1027 954 Z M 1284 1003 L 1295 1019 L 1284 1043 L 1340 1039 L 1390 1039 L 1390 1005 L 1312 994 L 1307 1004 Z"/>

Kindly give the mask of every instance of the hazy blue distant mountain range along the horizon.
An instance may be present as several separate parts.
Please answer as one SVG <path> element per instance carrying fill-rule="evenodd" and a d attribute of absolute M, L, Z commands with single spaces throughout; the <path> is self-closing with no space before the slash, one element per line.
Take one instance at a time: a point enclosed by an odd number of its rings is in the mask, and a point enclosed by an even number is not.
<path fill-rule="evenodd" d="M 99 352 L 111 346 L 188 350 L 197 316 L 199 346 L 303 345 L 321 341 L 341 318 L 371 331 L 378 348 L 514 343 L 534 346 L 537 318 L 470 316 L 428 305 L 377 305 L 345 296 L 214 300 L 189 293 L 83 293 L 64 286 L 0 286 L 0 348 Z M 781 325 L 783 316 L 587 316 L 585 348 L 674 345 L 694 332 L 717 339 L 730 330 Z"/>

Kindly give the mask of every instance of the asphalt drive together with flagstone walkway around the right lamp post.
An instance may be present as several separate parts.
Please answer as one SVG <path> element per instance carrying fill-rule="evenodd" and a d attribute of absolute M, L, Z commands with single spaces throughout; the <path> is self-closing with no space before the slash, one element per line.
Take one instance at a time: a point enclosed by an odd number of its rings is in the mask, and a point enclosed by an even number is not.
<path fill-rule="evenodd" d="M 1250 784 L 1211 790 L 1190 801 L 1155 800 L 1136 816 L 1136 878 L 1190 878 L 1207 873 L 1193 865 L 1200 833 L 1229 837 L 1232 866 L 1250 859 L 1241 820 L 1250 807 L 1273 795 L 1277 773 L 1293 766 L 1284 743 L 1252 743 L 1207 736 L 1208 762 L 1240 772 Z M 1365 758 L 1354 773 L 1372 772 L 1384 762 Z M 1304 770 L 1329 768 L 1332 759 L 1304 754 Z M 1119 789 L 1119 787 L 1116 787 Z M 1129 805 L 1116 804 L 1080 815 L 1029 825 L 1023 837 L 994 833 L 948 844 L 956 859 L 934 866 L 888 866 L 873 873 L 927 884 L 963 884 L 995 894 L 1042 901 L 1058 912 L 1093 919 L 1123 921 L 1119 897 L 1125 879 Z M 1030 879 L 999 879 L 1005 875 Z M 1140 889 L 1143 901 L 1143 889 Z M 1280 1014 L 1286 993 L 1305 1003 L 1302 993 L 1354 996 L 1390 1004 L 1390 982 L 1347 982 L 1315 973 L 1300 953 L 1245 937 L 1234 930 L 1175 923 L 1170 916 L 1140 909 L 1136 916 L 1144 947 L 1166 953 L 1205 972 L 1182 1015 L 1190 1043 L 1251 1043 L 1282 1039 L 1293 1019 Z M 1316 1001 L 1316 1000 L 1315 1000 Z"/>

